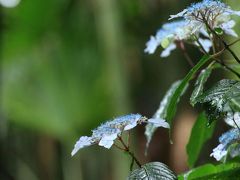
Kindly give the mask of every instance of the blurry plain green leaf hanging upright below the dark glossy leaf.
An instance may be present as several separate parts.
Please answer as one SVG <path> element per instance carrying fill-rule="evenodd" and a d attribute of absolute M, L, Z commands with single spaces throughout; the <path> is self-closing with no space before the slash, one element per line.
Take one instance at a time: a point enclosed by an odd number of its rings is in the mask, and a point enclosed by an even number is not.
<path fill-rule="evenodd" d="M 187 144 L 188 164 L 190 167 L 193 167 L 196 163 L 204 143 L 212 137 L 214 128 L 215 124 L 207 127 L 205 113 L 201 113 L 198 116 L 197 121 L 192 128 L 190 140 Z"/>

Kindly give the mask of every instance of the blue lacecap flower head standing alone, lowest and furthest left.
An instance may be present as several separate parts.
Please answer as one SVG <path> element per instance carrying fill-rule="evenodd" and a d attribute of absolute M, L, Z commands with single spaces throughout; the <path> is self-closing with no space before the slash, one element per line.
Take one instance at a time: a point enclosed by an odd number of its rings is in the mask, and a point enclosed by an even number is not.
<path fill-rule="evenodd" d="M 147 119 L 140 114 L 130 114 L 120 116 L 112 121 L 107 121 L 92 131 L 92 136 L 82 136 L 77 141 L 71 155 L 75 155 L 79 149 L 98 144 L 107 149 L 111 148 L 114 140 L 121 135 L 123 131 L 133 129 L 138 124 L 152 123 L 156 127 L 169 128 L 169 124 L 163 119 Z"/>

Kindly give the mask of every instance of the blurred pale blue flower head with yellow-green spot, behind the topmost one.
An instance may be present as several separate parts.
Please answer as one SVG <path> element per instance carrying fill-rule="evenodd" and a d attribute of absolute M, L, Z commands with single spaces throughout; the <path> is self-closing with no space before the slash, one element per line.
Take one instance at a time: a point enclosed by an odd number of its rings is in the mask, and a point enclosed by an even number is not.
<path fill-rule="evenodd" d="M 170 55 L 171 51 L 176 49 L 176 43 L 180 41 L 192 41 L 192 35 L 196 28 L 192 26 L 192 24 L 188 23 L 185 20 L 173 21 L 170 23 L 166 23 L 162 26 L 160 30 L 156 33 L 155 36 L 151 36 L 150 40 L 146 43 L 146 48 L 144 50 L 145 53 L 153 54 L 159 45 L 165 48 L 162 53 L 161 57 L 167 57 Z M 199 34 L 203 34 L 206 36 L 206 32 L 201 29 L 199 32 L 195 32 L 197 36 Z M 202 43 L 204 49 L 209 52 L 212 43 L 208 39 L 199 39 Z M 196 42 L 193 44 L 198 45 Z"/>

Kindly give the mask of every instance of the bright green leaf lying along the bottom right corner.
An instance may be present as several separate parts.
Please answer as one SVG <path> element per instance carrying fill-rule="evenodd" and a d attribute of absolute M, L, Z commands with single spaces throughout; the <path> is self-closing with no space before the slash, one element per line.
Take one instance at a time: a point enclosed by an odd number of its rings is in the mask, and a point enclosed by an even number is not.
<path fill-rule="evenodd" d="M 198 168 L 192 169 L 178 176 L 179 180 L 233 180 L 240 177 L 240 163 L 227 163 L 220 165 L 206 164 Z"/>

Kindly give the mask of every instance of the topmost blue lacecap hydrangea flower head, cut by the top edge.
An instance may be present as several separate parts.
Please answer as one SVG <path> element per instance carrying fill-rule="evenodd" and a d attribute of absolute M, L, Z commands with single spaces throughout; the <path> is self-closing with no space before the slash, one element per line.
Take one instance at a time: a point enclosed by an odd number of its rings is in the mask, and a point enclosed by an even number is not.
<path fill-rule="evenodd" d="M 176 15 L 171 15 L 170 19 L 184 18 L 196 29 L 206 28 L 207 23 L 211 29 L 221 28 L 226 34 L 237 37 L 233 30 L 236 23 L 231 19 L 231 15 L 240 16 L 240 11 L 232 10 L 219 0 L 203 0 L 192 4 Z"/>

